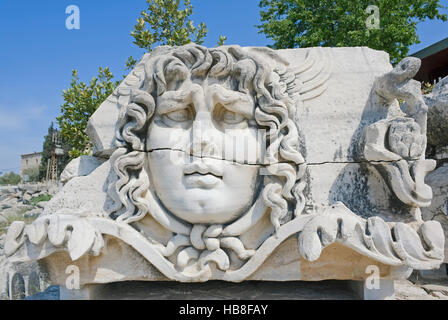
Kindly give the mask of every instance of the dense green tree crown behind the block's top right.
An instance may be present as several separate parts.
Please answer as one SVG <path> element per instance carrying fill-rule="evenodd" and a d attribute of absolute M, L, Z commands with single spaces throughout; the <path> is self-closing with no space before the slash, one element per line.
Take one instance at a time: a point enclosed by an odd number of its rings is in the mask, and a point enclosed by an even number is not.
<path fill-rule="evenodd" d="M 439 0 L 261 0 L 260 33 L 274 40 L 273 48 L 368 46 L 384 50 L 395 63 L 419 43 L 417 23 L 447 21 Z M 366 21 L 379 8 L 379 29 Z"/>

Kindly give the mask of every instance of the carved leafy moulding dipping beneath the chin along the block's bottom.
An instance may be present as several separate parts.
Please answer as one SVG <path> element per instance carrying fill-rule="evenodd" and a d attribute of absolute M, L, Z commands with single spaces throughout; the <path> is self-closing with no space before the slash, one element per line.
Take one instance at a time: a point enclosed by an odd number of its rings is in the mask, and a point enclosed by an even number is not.
<path fill-rule="evenodd" d="M 199 231 L 203 235 L 206 230 L 209 231 L 207 235 L 216 236 L 213 232 L 219 228 L 213 226 Z M 236 237 L 208 238 L 216 240 L 218 246 L 209 244 L 209 248 L 205 250 L 194 247 L 190 239 L 183 235 L 174 237 L 163 246 L 152 243 L 126 223 L 107 218 L 67 215 L 61 219 L 48 215 L 27 227 L 19 222 L 13 224 L 8 231 L 5 252 L 8 256 L 15 255 L 15 258 L 19 258 L 20 254 L 16 252 L 21 247 L 25 246 L 27 249 L 21 251 L 26 255 L 26 252 L 30 252 L 28 249 L 37 248 L 37 251 L 42 251 L 45 243 L 49 242 L 54 246 L 53 251 L 63 248 L 69 252 L 72 260 L 76 260 L 86 254 L 98 255 L 104 247 L 103 236 L 108 235 L 133 247 L 169 279 L 191 282 L 207 281 L 218 276 L 216 279 L 242 281 L 294 234 L 298 235 L 299 253 L 310 261 L 318 259 L 322 250 L 330 244 L 341 243 L 364 256 L 391 266 L 424 270 L 436 268 L 443 262 L 445 239 L 438 222 L 421 223 L 416 229 L 404 223 L 396 223 L 391 227 L 378 217 L 363 219 L 342 203 L 336 203 L 322 213 L 294 218 L 282 225 L 276 234 L 266 239 L 256 250 L 246 250 Z M 202 241 L 205 239 L 204 244 L 207 242 L 206 238 L 202 238 Z M 73 242 L 77 245 L 71 245 Z M 246 262 L 238 269 L 230 269 L 229 256 L 220 247 L 231 248 Z M 176 264 L 173 264 L 167 257 L 178 249 L 180 251 L 175 259 Z M 53 251 L 45 251 L 40 258 Z M 192 260 L 196 262 L 192 264 Z M 214 263 L 223 273 L 214 274 L 210 263 Z"/>

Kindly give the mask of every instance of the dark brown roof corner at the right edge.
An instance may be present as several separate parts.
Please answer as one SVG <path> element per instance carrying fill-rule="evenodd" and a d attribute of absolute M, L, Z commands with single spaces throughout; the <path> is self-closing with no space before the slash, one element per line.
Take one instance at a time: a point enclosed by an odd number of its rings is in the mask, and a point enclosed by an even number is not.
<path fill-rule="evenodd" d="M 422 66 L 414 77 L 415 80 L 433 84 L 448 76 L 448 38 L 434 43 L 412 56 L 422 60 Z"/>

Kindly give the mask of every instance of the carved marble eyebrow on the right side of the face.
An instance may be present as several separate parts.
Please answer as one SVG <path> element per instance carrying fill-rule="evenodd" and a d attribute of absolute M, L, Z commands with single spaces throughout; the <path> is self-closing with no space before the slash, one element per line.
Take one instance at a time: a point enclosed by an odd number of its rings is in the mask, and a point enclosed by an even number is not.
<path fill-rule="evenodd" d="M 254 114 L 255 103 L 251 96 L 221 86 L 213 88 L 214 105 L 222 104 L 227 110 L 241 113 L 251 119 Z"/>

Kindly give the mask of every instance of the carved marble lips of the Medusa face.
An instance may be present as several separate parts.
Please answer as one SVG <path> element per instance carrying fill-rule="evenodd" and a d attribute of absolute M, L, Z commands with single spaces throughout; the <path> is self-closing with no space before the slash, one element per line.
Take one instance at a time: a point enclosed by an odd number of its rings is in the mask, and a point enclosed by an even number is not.
<path fill-rule="evenodd" d="M 184 175 L 189 186 L 211 189 L 222 180 L 223 171 L 217 165 L 195 161 L 185 166 Z"/>

